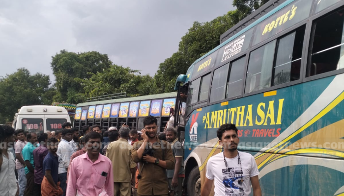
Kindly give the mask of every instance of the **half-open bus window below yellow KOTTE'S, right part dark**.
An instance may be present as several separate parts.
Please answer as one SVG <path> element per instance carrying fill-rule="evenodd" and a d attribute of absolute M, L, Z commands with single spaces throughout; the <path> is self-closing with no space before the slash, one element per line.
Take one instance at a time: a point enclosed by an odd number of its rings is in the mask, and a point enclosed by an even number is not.
<path fill-rule="evenodd" d="M 273 85 L 300 79 L 301 57 L 305 26 L 277 41 L 273 67 Z"/>

